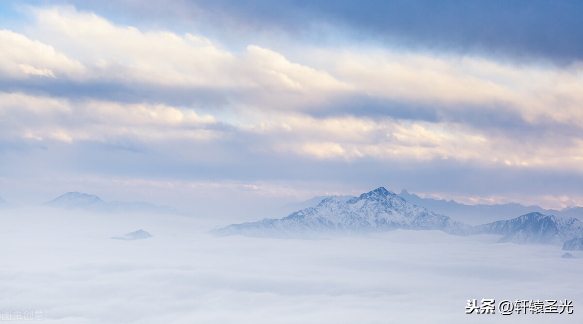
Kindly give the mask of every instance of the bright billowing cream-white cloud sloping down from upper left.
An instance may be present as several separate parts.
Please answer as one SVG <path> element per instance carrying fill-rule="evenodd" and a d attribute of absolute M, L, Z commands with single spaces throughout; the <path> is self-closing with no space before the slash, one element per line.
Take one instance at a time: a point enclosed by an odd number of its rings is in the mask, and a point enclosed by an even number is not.
<path fill-rule="evenodd" d="M 202 36 L 142 32 L 72 7 L 36 8 L 34 15 L 42 30 L 40 36 L 91 66 L 90 78 L 250 90 L 259 87 L 262 92 L 296 95 L 350 88 L 325 71 L 291 63 L 283 55 L 258 46 L 231 53 Z"/>

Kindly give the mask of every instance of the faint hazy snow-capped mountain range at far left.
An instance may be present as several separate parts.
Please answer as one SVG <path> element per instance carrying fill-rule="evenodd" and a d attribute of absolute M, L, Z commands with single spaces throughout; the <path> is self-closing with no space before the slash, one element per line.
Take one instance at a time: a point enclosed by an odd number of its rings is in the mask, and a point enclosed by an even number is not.
<path fill-rule="evenodd" d="M 125 201 L 106 201 L 93 195 L 73 191 L 63 194 L 51 201 L 43 204 L 47 207 L 65 208 L 65 209 L 83 209 L 97 212 L 153 212 L 156 214 L 188 214 L 188 212 L 178 210 L 170 206 L 159 206 L 144 202 L 128 203 Z"/>

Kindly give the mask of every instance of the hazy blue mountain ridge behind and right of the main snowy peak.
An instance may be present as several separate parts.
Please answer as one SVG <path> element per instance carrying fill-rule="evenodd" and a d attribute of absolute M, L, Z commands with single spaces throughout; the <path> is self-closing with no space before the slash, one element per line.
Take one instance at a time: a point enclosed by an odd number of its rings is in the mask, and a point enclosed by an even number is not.
<path fill-rule="evenodd" d="M 403 197 L 409 203 L 419 207 L 427 208 L 438 214 L 448 215 L 454 220 L 477 225 L 484 222 L 497 220 L 510 220 L 517 215 L 525 215 L 530 212 L 540 212 L 544 215 L 555 215 L 557 217 L 583 218 L 583 207 L 568 207 L 563 210 L 544 209 L 540 206 L 525 206 L 517 203 L 497 204 L 497 205 L 465 205 L 456 203 L 453 200 L 436 200 L 432 198 L 421 198 L 416 194 L 411 194 L 407 190 L 402 190 L 398 196 Z"/>

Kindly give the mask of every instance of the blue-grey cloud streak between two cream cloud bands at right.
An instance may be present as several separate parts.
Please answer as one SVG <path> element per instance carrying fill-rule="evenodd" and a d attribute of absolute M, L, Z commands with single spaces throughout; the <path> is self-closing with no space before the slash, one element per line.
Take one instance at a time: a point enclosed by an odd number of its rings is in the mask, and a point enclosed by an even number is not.
<path fill-rule="evenodd" d="M 528 121 L 518 110 L 504 103 L 415 103 L 350 93 L 319 106 L 307 106 L 303 112 L 318 119 L 356 116 L 373 120 L 389 117 L 413 122 L 456 123 L 479 133 L 522 138 L 525 142 L 561 140 L 561 145 L 565 145 L 574 138 L 583 137 L 580 126 L 553 119 Z"/>

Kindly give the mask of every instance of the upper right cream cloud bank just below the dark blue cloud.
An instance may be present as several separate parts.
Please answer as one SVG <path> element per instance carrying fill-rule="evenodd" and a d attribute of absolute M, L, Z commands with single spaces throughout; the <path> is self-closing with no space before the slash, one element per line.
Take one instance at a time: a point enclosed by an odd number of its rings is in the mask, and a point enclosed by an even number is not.
<path fill-rule="evenodd" d="M 508 109 L 533 124 L 583 127 L 583 63 L 511 65 L 480 57 L 322 51 L 312 59 L 368 95 L 440 106 L 445 112 Z"/>

